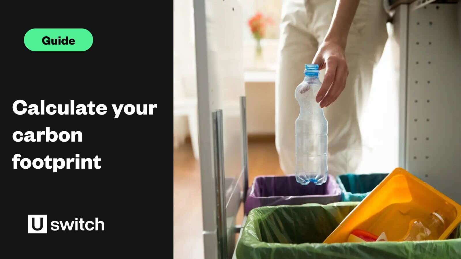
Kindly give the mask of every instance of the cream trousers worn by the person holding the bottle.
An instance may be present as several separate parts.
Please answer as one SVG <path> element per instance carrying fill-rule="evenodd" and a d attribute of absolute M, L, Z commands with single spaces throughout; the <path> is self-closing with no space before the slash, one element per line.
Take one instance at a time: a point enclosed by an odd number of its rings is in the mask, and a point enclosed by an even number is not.
<path fill-rule="evenodd" d="M 295 173 L 295 88 L 304 78 L 333 17 L 336 0 L 290 0 L 282 6 L 276 87 L 275 135 L 280 166 Z M 361 161 L 361 112 L 368 99 L 373 67 L 387 40 L 387 14 L 380 0 L 361 0 L 349 30 L 346 60 L 349 77 L 338 99 L 324 108 L 328 120 L 328 171 L 354 172 Z M 323 80 L 325 70 L 320 73 Z"/>

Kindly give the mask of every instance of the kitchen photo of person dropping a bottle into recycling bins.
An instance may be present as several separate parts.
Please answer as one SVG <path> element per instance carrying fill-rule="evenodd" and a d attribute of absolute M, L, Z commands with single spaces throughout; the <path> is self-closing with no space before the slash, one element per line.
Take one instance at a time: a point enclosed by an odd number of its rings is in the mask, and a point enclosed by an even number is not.
<path fill-rule="evenodd" d="M 173 1 L 174 258 L 461 257 L 461 2 Z"/>

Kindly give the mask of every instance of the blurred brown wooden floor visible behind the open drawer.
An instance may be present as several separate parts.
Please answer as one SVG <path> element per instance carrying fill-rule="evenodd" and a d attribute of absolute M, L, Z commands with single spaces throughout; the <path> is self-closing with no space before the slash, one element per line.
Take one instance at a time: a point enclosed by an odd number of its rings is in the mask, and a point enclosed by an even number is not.
<path fill-rule="evenodd" d="M 203 258 L 200 165 L 190 142 L 173 151 L 173 257 Z M 258 175 L 283 175 L 273 137 L 249 139 L 248 184 Z M 236 218 L 242 221 L 242 208 Z"/>

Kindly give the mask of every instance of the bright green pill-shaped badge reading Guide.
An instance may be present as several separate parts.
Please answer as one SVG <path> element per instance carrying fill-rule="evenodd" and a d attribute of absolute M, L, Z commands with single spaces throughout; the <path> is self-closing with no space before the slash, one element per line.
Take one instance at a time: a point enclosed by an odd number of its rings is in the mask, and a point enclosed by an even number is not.
<path fill-rule="evenodd" d="M 31 51 L 85 51 L 93 45 L 87 29 L 30 29 L 24 45 Z"/>

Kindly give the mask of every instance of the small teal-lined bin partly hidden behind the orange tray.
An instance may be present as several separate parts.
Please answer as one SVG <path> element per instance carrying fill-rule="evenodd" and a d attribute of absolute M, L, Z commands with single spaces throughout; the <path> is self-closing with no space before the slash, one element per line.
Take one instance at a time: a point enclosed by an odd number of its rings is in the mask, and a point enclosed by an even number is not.
<path fill-rule="evenodd" d="M 336 177 L 342 201 L 362 201 L 388 174 L 344 174 Z"/>

